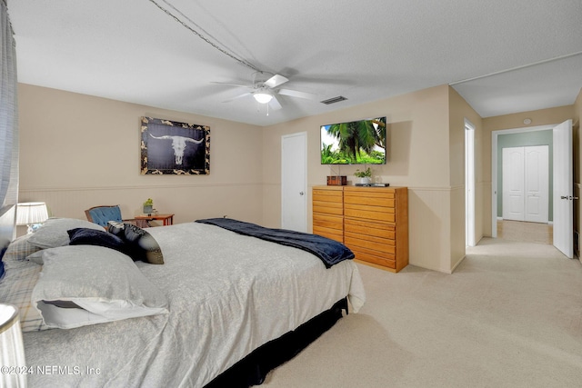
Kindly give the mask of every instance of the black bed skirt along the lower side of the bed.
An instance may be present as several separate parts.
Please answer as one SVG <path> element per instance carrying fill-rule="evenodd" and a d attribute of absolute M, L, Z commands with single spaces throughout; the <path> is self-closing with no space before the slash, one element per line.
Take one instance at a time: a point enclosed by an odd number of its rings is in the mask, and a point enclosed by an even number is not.
<path fill-rule="evenodd" d="M 224 373 L 207 383 L 205 388 L 240 387 L 247 388 L 265 382 L 266 374 L 277 366 L 286 363 L 297 353 L 313 343 L 321 334 L 326 333 L 341 318 L 342 310 L 347 313 L 347 299 L 336 302 L 296 330 L 283 334 L 276 340 L 265 343 L 253 353 L 235 363 Z"/>

